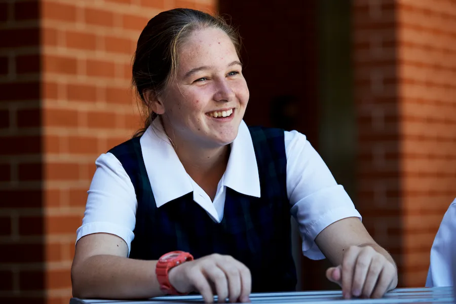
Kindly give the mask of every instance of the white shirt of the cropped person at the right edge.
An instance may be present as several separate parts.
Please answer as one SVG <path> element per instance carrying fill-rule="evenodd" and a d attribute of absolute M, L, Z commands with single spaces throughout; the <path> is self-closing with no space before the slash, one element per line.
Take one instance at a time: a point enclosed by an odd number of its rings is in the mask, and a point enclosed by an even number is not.
<path fill-rule="evenodd" d="M 455 249 L 456 199 L 446 210 L 432 244 L 426 287 L 453 286 L 451 270 L 453 260 L 456 260 Z"/>

